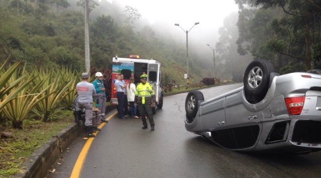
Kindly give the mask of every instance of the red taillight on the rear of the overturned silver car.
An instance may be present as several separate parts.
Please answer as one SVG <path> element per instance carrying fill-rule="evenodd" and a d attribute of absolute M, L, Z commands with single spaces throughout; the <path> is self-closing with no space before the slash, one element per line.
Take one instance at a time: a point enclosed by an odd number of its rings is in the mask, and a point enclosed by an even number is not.
<path fill-rule="evenodd" d="M 303 97 L 292 97 L 284 98 L 287 111 L 290 115 L 299 115 L 303 109 L 305 96 Z"/>

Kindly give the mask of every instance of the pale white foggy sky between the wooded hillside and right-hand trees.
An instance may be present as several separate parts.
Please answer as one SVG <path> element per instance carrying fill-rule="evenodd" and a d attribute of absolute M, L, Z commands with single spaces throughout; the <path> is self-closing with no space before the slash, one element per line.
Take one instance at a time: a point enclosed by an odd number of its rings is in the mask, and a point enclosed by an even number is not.
<path fill-rule="evenodd" d="M 155 31 L 156 37 L 167 40 L 171 39 L 176 42 L 181 49 L 186 48 L 186 31 L 188 32 L 189 56 L 194 61 L 206 64 L 207 72 L 202 77 L 212 76 L 212 59 L 213 50 L 207 46 L 215 47 L 219 42 L 219 28 L 223 27 L 224 20 L 234 14 L 237 22 L 238 6 L 234 0 L 106 0 L 112 4 L 131 6 L 136 8 L 142 18 L 137 21 L 139 26 L 150 26 Z M 235 15 L 236 14 L 236 15 Z M 199 22 L 199 24 L 195 24 Z M 180 26 L 175 26 L 179 23 Z M 193 27 L 193 28 L 192 28 Z M 183 29 L 182 29 L 183 28 Z M 192 29 L 191 29 L 192 28 Z M 190 31 L 191 29 L 191 31 Z M 139 30 L 139 29 L 138 29 Z M 238 33 L 236 32 L 233 39 L 236 41 Z M 235 44 L 236 45 L 236 44 Z M 218 55 L 218 53 L 216 53 Z M 192 57 L 191 57 L 192 56 Z M 240 56 L 237 50 L 230 51 L 229 58 L 244 58 Z M 220 65 L 220 58 L 216 56 L 217 64 Z M 248 57 L 251 60 L 251 57 Z M 230 71 L 233 65 L 229 66 Z M 218 74 L 219 72 L 217 72 Z M 229 72 L 231 73 L 231 72 Z M 221 78 L 230 78 L 230 75 L 218 75 Z M 183 77 L 183 76 L 182 76 Z"/>

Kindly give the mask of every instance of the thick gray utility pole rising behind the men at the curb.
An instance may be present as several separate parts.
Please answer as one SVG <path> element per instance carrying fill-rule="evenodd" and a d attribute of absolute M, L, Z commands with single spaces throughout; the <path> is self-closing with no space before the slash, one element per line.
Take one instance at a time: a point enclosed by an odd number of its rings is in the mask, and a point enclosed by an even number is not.
<path fill-rule="evenodd" d="M 85 6 L 85 67 L 86 72 L 90 70 L 90 49 L 89 49 L 89 0 Z"/>

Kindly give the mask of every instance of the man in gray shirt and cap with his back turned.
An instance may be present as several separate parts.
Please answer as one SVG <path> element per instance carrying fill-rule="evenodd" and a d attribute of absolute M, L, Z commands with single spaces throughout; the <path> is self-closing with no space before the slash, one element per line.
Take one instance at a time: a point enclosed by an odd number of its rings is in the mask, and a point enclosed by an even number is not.
<path fill-rule="evenodd" d="M 92 132 L 94 131 L 92 126 L 93 117 L 93 97 L 96 97 L 95 86 L 88 82 L 89 74 L 82 73 L 82 81 L 77 83 L 78 102 L 77 109 L 81 110 L 85 108 L 85 131 L 86 135 L 84 139 L 89 137 L 95 137 Z"/>

